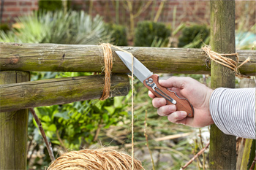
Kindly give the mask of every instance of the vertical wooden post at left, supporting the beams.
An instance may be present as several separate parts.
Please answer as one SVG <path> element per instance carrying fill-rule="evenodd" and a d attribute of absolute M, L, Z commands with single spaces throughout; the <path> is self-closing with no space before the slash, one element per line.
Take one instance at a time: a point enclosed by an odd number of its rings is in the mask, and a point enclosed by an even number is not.
<path fill-rule="evenodd" d="M 0 72 L 0 84 L 26 82 L 29 72 Z M 0 169 L 26 169 L 28 109 L 0 110 Z"/>

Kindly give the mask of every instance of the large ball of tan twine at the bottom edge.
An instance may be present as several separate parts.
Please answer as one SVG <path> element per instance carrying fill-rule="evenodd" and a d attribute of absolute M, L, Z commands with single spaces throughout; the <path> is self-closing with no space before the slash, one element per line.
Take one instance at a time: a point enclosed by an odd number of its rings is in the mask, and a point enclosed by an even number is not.
<path fill-rule="evenodd" d="M 145 170 L 135 160 L 135 170 Z M 130 170 L 132 157 L 116 150 L 96 149 L 67 152 L 53 161 L 48 170 Z"/>

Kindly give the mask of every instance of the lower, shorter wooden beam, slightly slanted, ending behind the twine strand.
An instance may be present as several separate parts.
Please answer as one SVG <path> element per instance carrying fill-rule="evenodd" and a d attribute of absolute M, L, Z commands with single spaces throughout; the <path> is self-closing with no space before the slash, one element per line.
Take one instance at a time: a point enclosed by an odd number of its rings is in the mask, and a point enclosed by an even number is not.
<path fill-rule="evenodd" d="M 0 112 L 100 98 L 104 76 L 64 77 L 0 85 Z M 111 77 L 110 96 L 129 93 L 127 74 Z"/>

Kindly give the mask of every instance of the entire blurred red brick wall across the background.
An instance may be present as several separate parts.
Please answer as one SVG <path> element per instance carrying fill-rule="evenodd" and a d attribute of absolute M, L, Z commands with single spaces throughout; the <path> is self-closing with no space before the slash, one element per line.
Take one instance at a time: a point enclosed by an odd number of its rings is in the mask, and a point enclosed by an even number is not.
<path fill-rule="evenodd" d="M 2 1 L 4 1 L 3 9 L 0 9 L 2 23 L 13 23 L 15 17 L 26 15 L 27 13 L 38 9 L 38 0 L 0 0 L 0 5 Z M 138 12 L 140 7 L 145 7 L 146 3 L 147 1 L 145 0 L 133 0 L 133 13 L 135 14 Z M 102 15 L 108 22 L 116 23 L 116 18 L 118 18 L 118 23 L 129 25 L 129 12 L 127 7 L 125 7 L 125 4 L 125 1 L 119 0 L 117 14 L 116 1 L 112 0 L 72 0 L 71 6 L 72 9 L 83 9 L 88 13 L 91 12 L 91 15 L 93 16 Z M 152 4 L 138 16 L 138 18 L 135 18 L 135 23 L 140 20 L 153 20 L 160 4 L 160 0 L 153 1 Z M 236 23 L 239 23 L 239 19 L 244 20 L 245 18 L 246 24 L 248 26 L 253 26 L 256 21 L 255 7 L 256 1 L 236 1 Z M 175 9 L 176 12 L 173 12 Z M 173 24 L 174 19 L 176 21 L 176 26 L 181 22 L 206 23 L 209 25 L 210 1 L 167 0 L 165 1 L 158 21 Z"/>

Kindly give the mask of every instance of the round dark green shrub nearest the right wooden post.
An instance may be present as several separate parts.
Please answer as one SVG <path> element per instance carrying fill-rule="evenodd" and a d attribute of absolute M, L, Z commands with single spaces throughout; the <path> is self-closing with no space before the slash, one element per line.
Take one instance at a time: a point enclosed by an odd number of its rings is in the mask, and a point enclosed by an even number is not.
<path fill-rule="evenodd" d="M 178 47 L 195 47 L 200 48 L 208 44 L 210 29 L 206 25 L 193 25 L 185 27 L 181 36 L 178 38 Z"/>

